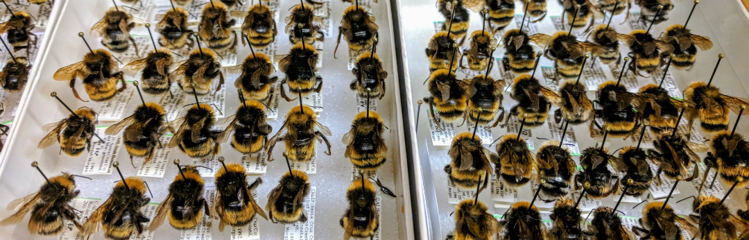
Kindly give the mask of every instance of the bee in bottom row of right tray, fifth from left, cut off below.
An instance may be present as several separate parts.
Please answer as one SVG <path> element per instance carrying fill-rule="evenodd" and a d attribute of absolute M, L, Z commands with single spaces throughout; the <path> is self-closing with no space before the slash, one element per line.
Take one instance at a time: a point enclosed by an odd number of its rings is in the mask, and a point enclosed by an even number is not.
<path fill-rule="evenodd" d="M 694 229 L 686 219 L 676 216 L 676 213 L 666 202 L 650 202 L 643 208 L 640 226 L 632 226 L 632 232 L 640 239 L 682 240 L 682 229 Z M 734 231 L 736 233 L 736 231 Z"/>

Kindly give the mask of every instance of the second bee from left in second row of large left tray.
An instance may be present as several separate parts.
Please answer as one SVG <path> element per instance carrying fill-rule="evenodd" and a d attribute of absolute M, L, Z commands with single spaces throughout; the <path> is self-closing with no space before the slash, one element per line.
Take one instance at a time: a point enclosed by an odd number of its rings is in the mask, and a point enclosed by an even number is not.
<path fill-rule="evenodd" d="M 169 91 L 172 81 L 169 80 L 169 68 L 175 63 L 172 52 L 169 49 L 162 48 L 153 52 L 148 52 L 145 58 L 128 63 L 122 68 L 125 75 L 135 77 L 139 71 L 141 74 L 141 83 L 143 83 L 143 92 L 159 95 Z"/>

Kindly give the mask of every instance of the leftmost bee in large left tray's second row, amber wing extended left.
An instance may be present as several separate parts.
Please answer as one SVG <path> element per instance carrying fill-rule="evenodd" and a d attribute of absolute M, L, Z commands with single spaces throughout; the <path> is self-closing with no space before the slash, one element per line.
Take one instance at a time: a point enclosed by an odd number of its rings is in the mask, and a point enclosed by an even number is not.
<path fill-rule="evenodd" d="M 88 46 L 83 33 L 79 32 L 78 36 Z M 79 78 L 83 82 L 88 98 L 97 102 L 109 101 L 115 98 L 118 92 L 122 92 L 127 88 L 124 74 L 118 71 L 117 62 L 114 61 L 112 53 L 109 53 L 109 51 L 105 49 L 96 49 L 94 51 L 91 49 L 91 46 L 88 46 L 88 51 L 89 53 L 83 56 L 83 61 L 60 68 L 55 72 L 55 75 L 52 75 L 52 79 L 70 81 L 70 89 L 73 90 L 73 95 L 78 100 L 83 101 L 78 95 L 78 91 L 76 91 L 76 78 Z M 120 89 L 117 89 L 118 80 L 122 82 Z"/>

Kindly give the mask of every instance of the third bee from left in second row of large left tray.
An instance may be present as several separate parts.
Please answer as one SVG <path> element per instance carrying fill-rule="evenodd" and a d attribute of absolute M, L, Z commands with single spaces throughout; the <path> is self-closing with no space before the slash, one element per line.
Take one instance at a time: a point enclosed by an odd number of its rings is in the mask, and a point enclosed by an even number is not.
<path fill-rule="evenodd" d="M 200 40 L 195 37 L 198 49 L 192 50 L 186 61 L 172 71 L 171 79 L 177 82 L 182 91 L 188 94 L 207 95 L 213 88 L 213 80 L 219 77 L 219 85 L 216 91 L 221 90 L 224 85 L 224 73 L 221 71 L 221 62 L 216 58 L 216 52 L 211 49 L 203 49 Z"/>

